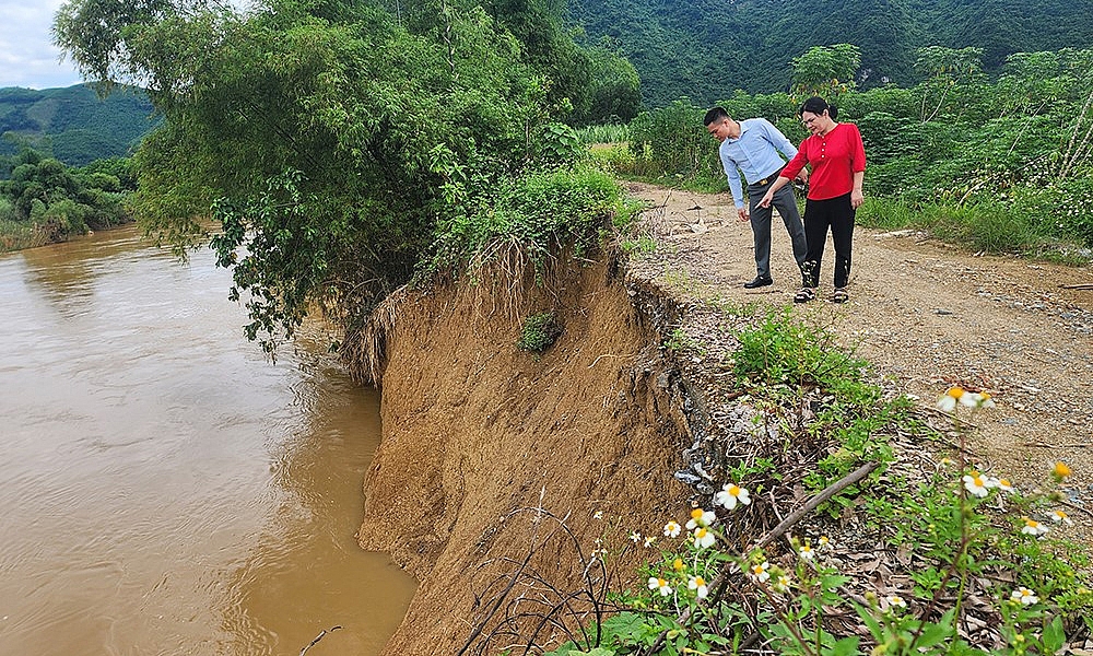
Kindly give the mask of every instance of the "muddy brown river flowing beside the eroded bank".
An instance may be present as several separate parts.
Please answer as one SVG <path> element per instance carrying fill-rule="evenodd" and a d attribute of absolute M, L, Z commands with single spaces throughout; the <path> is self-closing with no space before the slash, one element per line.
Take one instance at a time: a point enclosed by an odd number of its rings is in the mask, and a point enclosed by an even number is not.
<path fill-rule="evenodd" d="M 378 395 L 318 337 L 270 364 L 230 282 L 129 229 L 0 255 L 0 655 L 368 656 L 402 620 L 353 538 Z"/>

